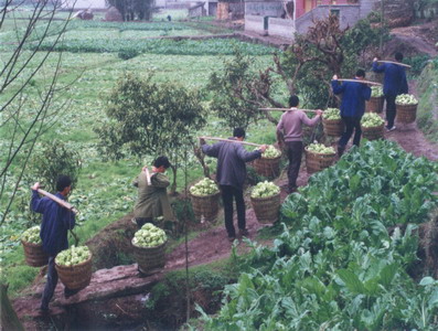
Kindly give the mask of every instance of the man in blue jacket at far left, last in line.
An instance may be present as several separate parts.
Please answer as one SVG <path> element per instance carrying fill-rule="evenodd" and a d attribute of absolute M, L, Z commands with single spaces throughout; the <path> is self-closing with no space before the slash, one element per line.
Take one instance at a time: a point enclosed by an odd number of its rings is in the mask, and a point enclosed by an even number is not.
<path fill-rule="evenodd" d="M 61 250 L 68 248 L 67 232 L 75 226 L 75 214 L 49 197 L 41 197 L 38 193 L 40 189 L 39 182 L 34 183 L 31 189 L 31 209 L 36 213 L 43 214 L 40 237 L 43 242 L 43 250 L 49 255 L 47 282 L 44 287 L 40 307 L 41 312 L 46 313 L 49 312 L 49 302 L 57 284 L 55 258 Z M 56 190 L 55 196 L 66 200 L 72 190 L 72 179 L 68 175 L 61 174 L 56 181 Z M 64 288 L 65 297 L 70 297 L 77 290 Z"/>

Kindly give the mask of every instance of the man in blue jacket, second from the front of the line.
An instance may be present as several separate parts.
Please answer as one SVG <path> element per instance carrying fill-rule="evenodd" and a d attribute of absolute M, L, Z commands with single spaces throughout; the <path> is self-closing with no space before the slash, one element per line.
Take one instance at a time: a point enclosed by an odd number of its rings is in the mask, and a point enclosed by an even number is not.
<path fill-rule="evenodd" d="M 359 70 L 354 79 L 363 81 L 365 72 Z M 338 76 L 333 76 L 332 89 L 334 94 L 342 94 L 341 103 L 341 118 L 345 124 L 344 132 L 338 142 L 338 154 L 341 157 L 345 150 L 354 131 L 353 145 L 357 146 L 361 142 L 361 119 L 365 113 L 365 100 L 370 100 L 371 88 L 366 84 L 356 82 L 344 82 L 342 85 L 338 82 Z"/>

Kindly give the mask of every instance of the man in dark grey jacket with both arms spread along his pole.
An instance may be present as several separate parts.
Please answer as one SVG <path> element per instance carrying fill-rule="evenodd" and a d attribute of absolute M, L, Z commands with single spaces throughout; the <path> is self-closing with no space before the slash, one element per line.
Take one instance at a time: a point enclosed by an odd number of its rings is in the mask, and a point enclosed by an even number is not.
<path fill-rule="evenodd" d="M 243 141 L 245 139 L 245 130 L 235 128 L 233 137 L 229 139 Z M 200 142 L 205 154 L 217 158 L 216 180 L 220 184 L 224 203 L 225 228 L 228 234 L 228 241 L 234 242 L 236 238 L 233 224 L 233 199 L 236 201 L 238 235 L 247 236 L 243 190 L 246 179 L 245 162 L 260 158 L 267 146 L 263 145 L 255 151 L 247 151 L 242 143 L 220 141 L 209 146 L 205 145 L 204 139 L 200 139 Z"/>

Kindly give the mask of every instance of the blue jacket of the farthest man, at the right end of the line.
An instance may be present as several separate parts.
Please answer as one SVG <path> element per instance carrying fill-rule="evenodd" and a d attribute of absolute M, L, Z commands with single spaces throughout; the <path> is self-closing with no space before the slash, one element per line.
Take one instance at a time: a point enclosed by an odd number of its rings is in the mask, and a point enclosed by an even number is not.
<path fill-rule="evenodd" d="M 405 68 L 397 64 L 373 62 L 373 72 L 385 73 L 383 94 L 397 96 L 408 93 Z"/>

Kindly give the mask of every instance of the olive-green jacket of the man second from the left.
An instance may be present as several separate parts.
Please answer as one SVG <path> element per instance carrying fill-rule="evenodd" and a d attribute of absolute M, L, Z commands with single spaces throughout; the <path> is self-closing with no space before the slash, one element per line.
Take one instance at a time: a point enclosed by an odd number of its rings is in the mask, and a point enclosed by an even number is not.
<path fill-rule="evenodd" d="M 154 173 L 150 177 L 151 185 L 148 185 L 143 171 L 133 181 L 138 188 L 138 199 L 133 207 L 135 217 L 163 216 L 167 221 L 174 221 L 172 207 L 169 202 L 167 186 L 170 181 L 163 173 Z"/>

